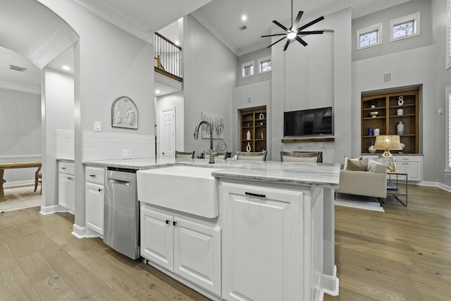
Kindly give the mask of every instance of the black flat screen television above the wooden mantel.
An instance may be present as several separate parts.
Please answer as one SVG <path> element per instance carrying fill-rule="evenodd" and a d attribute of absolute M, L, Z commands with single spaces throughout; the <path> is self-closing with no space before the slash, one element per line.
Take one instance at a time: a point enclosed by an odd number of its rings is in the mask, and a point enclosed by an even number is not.
<path fill-rule="evenodd" d="M 283 135 L 333 135 L 332 106 L 283 113 Z"/>

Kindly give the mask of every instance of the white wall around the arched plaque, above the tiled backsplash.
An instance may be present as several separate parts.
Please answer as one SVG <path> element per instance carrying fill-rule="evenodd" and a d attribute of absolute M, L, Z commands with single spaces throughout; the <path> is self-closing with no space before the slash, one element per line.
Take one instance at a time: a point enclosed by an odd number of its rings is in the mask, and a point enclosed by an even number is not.
<path fill-rule="evenodd" d="M 74 229 L 82 229 L 85 227 L 85 171 L 81 164 L 83 131 L 93 130 L 94 121 L 101 121 L 102 131 L 153 135 L 154 51 L 152 45 L 86 11 L 73 1 L 39 2 L 65 20 L 80 36 L 74 50 Z M 137 105 L 137 130 L 111 127 L 111 105 L 122 96 L 130 97 Z"/>

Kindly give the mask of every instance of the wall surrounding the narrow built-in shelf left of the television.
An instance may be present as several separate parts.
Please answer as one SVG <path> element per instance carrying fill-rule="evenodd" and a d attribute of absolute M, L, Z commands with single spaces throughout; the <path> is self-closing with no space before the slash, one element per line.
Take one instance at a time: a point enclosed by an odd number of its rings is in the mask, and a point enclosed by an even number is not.
<path fill-rule="evenodd" d="M 252 102 L 247 102 L 247 98 L 252 97 Z M 233 89 L 232 105 L 232 133 L 233 146 L 228 147 L 228 152 L 240 150 L 240 110 L 266 106 L 266 147 L 271 154 L 271 80 L 266 82 L 256 82 L 251 85 L 235 87 Z"/>

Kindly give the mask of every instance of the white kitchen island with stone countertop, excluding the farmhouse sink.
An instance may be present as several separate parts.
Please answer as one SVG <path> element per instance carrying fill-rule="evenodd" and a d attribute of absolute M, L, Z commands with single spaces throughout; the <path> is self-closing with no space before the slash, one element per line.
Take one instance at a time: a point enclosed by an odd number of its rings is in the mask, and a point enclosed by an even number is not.
<path fill-rule="evenodd" d="M 139 170 L 212 169 L 217 217 L 151 204 L 141 193 L 141 256 L 212 300 L 322 300 L 338 295 L 333 191 L 338 164 L 204 159 L 84 162 Z M 178 190 L 167 183 L 168 190 Z M 202 190 L 202 187 L 198 187 Z M 189 192 L 185 191 L 189 196 Z"/>

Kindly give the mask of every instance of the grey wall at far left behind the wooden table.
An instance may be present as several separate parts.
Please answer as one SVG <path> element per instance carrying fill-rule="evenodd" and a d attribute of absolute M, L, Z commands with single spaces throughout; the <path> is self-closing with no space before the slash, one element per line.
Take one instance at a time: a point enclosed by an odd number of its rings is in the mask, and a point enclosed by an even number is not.
<path fill-rule="evenodd" d="M 41 160 L 40 111 L 39 94 L 0 88 L 0 162 Z M 6 169 L 4 187 L 35 183 L 35 171 Z"/>

